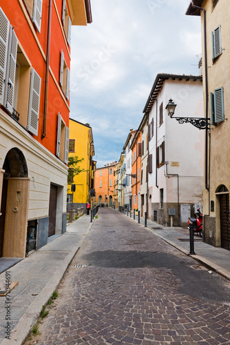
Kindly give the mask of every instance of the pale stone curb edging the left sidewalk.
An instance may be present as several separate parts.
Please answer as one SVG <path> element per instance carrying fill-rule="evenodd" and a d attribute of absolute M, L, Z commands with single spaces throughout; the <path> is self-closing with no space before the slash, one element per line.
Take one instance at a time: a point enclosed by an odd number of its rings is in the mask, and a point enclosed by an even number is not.
<path fill-rule="evenodd" d="M 79 251 L 80 247 L 85 241 L 85 237 L 90 232 L 93 224 L 94 220 L 87 227 L 87 230 L 85 231 L 85 234 L 79 241 L 78 246 L 74 247 L 67 255 L 67 257 L 65 257 L 59 268 L 56 268 L 54 274 L 50 278 L 50 281 L 45 285 L 41 293 L 36 297 L 34 302 L 30 304 L 27 311 L 19 319 L 17 325 L 12 329 L 10 340 L 3 339 L 3 341 L 0 343 L 1 345 L 21 345 L 25 341 L 26 337 L 28 337 L 30 331 L 32 330 L 32 326 L 36 324 L 36 321 L 41 312 L 41 308 L 44 305 L 48 304 L 48 301 L 52 296 L 52 293 L 59 287 L 59 284 L 61 283 L 61 280 L 63 279 L 63 276 L 65 275 L 67 268 L 70 266 L 72 259 L 74 259 L 74 256 Z"/>

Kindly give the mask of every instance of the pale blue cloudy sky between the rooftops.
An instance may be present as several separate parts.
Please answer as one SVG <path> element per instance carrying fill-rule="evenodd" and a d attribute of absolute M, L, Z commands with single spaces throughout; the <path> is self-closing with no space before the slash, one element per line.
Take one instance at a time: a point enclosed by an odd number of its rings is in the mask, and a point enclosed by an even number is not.
<path fill-rule="evenodd" d="M 90 124 L 97 168 L 118 161 L 158 73 L 198 75 L 200 17 L 189 0 L 91 0 L 72 26 L 70 117 Z"/>

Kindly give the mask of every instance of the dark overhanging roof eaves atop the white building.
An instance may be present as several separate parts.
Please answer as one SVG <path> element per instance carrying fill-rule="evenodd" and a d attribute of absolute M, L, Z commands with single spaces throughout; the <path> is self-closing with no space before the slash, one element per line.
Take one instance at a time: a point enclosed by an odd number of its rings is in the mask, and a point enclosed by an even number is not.
<path fill-rule="evenodd" d="M 186 81 L 189 81 L 189 80 L 202 81 L 202 76 L 200 75 L 196 75 L 196 76 L 195 75 L 172 75 L 172 74 L 167 74 L 167 73 L 158 73 L 158 75 L 156 75 L 154 85 L 151 88 L 151 92 L 149 94 L 147 102 L 145 103 L 145 108 L 143 110 L 144 113 L 151 111 L 151 108 L 154 105 L 154 101 L 156 100 L 156 97 L 158 97 L 159 92 L 163 88 L 165 80 L 168 80 L 168 79 L 172 79 L 172 80 L 185 79 Z"/>

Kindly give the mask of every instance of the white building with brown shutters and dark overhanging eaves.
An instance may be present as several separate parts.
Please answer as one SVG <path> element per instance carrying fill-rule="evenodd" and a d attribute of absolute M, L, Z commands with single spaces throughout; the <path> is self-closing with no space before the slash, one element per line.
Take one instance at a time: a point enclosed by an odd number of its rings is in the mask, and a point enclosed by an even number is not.
<path fill-rule="evenodd" d="M 169 99 L 177 104 L 174 117 L 203 117 L 202 77 L 158 74 L 143 110 L 149 118 L 149 218 L 181 226 L 194 215 L 194 204 L 202 204 L 205 130 L 171 119 Z"/>

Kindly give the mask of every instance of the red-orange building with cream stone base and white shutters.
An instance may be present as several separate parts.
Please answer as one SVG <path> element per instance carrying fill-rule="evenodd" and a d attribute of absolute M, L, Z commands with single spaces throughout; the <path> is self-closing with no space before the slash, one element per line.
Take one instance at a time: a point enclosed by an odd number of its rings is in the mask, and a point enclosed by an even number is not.
<path fill-rule="evenodd" d="M 90 0 L 0 0 L 0 257 L 66 227 L 72 25 Z"/>

